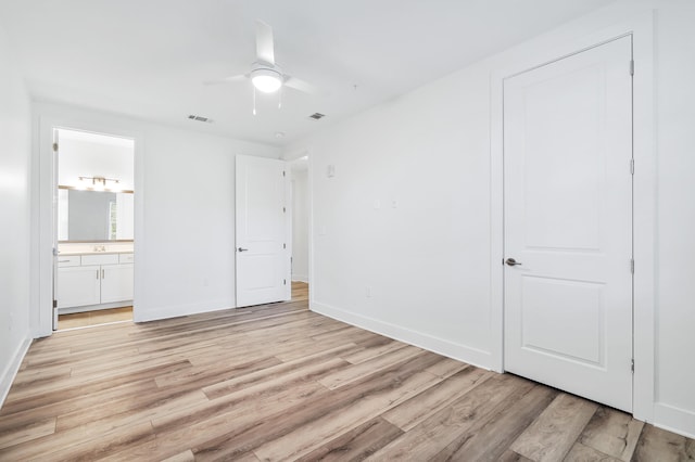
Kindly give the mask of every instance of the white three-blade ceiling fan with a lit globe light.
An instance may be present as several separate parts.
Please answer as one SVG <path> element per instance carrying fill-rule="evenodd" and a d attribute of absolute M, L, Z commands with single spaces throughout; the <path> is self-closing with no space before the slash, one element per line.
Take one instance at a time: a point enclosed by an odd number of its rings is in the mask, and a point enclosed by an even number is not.
<path fill-rule="evenodd" d="M 274 93 L 282 86 L 305 93 L 316 93 L 316 89 L 296 77 L 289 76 L 275 63 L 273 28 L 261 20 L 256 20 L 256 61 L 251 64 L 248 74 L 226 77 L 205 82 L 206 85 L 231 84 L 251 79 L 254 88 L 264 93 Z"/>

